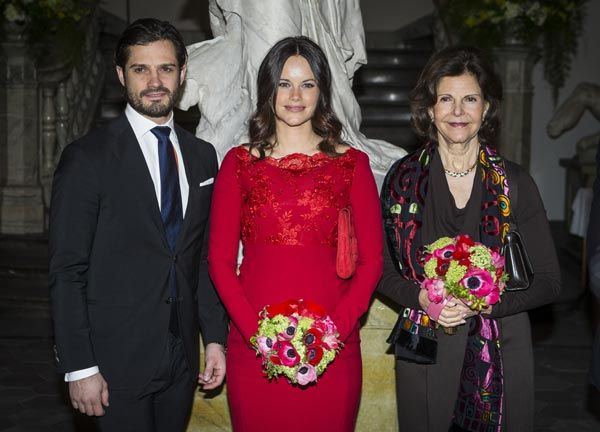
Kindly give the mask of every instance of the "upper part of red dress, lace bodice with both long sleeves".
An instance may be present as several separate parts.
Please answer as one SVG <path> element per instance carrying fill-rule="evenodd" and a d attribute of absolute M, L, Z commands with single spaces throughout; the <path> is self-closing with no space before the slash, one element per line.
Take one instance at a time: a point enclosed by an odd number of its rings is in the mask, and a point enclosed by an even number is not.
<path fill-rule="evenodd" d="M 358 261 L 344 280 L 335 272 L 335 248 L 339 209 L 348 205 Z M 245 147 L 231 149 L 215 182 L 208 247 L 211 278 L 236 329 L 230 342 L 249 341 L 259 311 L 290 298 L 320 303 L 342 339 L 353 334 L 356 341 L 358 319 L 381 276 L 379 208 L 369 158 L 359 150 L 259 159 Z"/>

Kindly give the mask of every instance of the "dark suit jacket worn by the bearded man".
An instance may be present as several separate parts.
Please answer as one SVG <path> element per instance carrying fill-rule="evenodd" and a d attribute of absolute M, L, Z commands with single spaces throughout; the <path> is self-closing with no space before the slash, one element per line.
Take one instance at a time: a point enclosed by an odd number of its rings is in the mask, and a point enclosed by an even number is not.
<path fill-rule="evenodd" d="M 143 388 L 166 344 L 171 271 L 192 376 L 198 374 L 198 326 L 204 342 L 225 343 L 227 318 L 206 263 L 216 154 L 187 131 L 176 126 L 175 132 L 189 199 L 174 252 L 146 161 L 124 114 L 62 153 L 49 236 L 61 372 L 98 365 L 110 389 Z"/>

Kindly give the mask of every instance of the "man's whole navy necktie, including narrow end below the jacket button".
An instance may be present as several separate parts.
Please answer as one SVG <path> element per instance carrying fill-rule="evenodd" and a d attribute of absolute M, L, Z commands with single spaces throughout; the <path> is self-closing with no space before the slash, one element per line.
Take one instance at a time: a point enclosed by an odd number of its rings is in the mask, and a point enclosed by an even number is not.
<path fill-rule="evenodd" d="M 169 140 L 171 128 L 168 126 L 156 126 L 151 132 L 158 139 L 158 165 L 160 167 L 160 215 L 167 235 L 167 241 L 171 252 L 175 252 L 175 243 L 183 222 L 183 211 L 181 210 L 181 190 L 179 189 L 179 172 L 175 160 L 175 149 Z M 169 319 L 169 330 L 174 336 L 179 336 L 179 320 L 177 319 L 177 279 L 175 277 L 174 255 L 171 272 L 169 274 L 169 285 L 171 297 L 167 303 L 172 305 L 171 317 Z"/>

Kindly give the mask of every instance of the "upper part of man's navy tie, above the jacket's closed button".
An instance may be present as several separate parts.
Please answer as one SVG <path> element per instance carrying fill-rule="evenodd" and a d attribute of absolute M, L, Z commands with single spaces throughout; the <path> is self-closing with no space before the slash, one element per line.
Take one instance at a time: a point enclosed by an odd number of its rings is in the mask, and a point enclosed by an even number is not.
<path fill-rule="evenodd" d="M 175 149 L 169 140 L 171 128 L 156 126 L 151 132 L 158 138 L 158 163 L 160 166 L 160 215 L 162 217 L 167 241 L 171 252 L 175 251 L 175 243 L 181 223 L 181 190 L 179 189 L 179 172 L 175 160 Z"/>

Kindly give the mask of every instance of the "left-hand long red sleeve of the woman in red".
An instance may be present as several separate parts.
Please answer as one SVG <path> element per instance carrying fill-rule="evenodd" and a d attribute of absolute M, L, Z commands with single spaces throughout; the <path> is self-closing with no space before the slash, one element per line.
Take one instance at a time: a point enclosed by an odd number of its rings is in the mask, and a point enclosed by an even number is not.
<path fill-rule="evenodd" d="M 237 276 L 240 242 L 241 190 L 238 181 L 238 151 L 225 156 L 212 198 L 208 271 L 233 325 L 248 344 L 256 332 L 258 316 L 248 302 Z"/>

